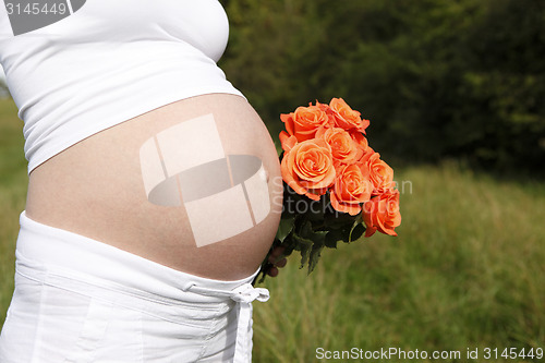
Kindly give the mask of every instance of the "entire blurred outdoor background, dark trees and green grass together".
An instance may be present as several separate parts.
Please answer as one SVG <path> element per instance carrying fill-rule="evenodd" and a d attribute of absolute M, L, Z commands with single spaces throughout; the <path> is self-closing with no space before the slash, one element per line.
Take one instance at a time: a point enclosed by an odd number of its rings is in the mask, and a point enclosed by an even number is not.
<path fill-rule="evenodd" d="M 220 66 L 275 142 L 280 113 L 342 97 L 371 120 L 370 145 L 401 192 L 399 237 L 324 251 L 308 277 L 291 256 L 265 281 L 271 299 L 254 304 L 254 362 L 326 361 L 319 348 L 542 362 L 545 1 L 220 2 L 231 28 Z M 22 122 L 4 97 L 0 325 L 26 178 Z"/>

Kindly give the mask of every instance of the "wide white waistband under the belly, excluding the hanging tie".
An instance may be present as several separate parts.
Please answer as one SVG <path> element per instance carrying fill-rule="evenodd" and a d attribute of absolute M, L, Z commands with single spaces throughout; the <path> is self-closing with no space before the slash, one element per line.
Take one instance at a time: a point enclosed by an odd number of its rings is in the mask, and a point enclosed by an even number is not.
<path fill-rule="evenodd" d="M 20 223 L 16 254 L 47 267 L 73 270 L 167 299 L 183 297 L 186 300 L 187 294 L 184 292 L 191 286 L 229 292 L 251 282 L 258 274 L 257 270 L 247 278 L 231 281 L 208 279 L 175 270 L 84 235 L 39 223 L 24 211 Z"/>

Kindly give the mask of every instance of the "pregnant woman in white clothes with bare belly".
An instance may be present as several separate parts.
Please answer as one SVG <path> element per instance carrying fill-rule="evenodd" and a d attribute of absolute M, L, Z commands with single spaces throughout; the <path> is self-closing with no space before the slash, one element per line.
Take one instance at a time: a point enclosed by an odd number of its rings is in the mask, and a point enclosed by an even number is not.
<path fill-rule="evenodd" d="M 4 4 L 29 184 L 0 362 L 249 362 L 282 185 L 220 3 Z"/>

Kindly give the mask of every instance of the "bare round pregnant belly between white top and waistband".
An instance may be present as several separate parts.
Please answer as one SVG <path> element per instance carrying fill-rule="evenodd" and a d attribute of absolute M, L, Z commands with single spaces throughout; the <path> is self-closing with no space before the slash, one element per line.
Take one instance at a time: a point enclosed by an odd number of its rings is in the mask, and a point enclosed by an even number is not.
<path fill-rule="evenodd" d="M 169 104 L 95 134 L 31 173 L 26 214 L 215 279 L 254 273 L 282 185 L 272 141 L 245 99 Z"/>

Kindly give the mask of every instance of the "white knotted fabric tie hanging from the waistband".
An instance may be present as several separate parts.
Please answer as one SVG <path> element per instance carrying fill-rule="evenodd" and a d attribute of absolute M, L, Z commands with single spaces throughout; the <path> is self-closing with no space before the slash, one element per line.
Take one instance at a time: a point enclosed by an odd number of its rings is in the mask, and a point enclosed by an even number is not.
<path fill-rule="evenodd" d="M 233 363 L 251 362 L 252 302 L 254 300 L 266 302 L 269 300 L 269 291 L 263 288 L 254 288 L 251 283 L 243 283 L 231 291 L 199 288 L 195 285 L 190 285 L 184 290 L 211 297 L 225 295 L 237 302 L 238 324 Z"/>

